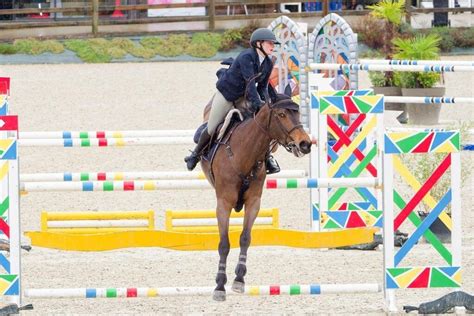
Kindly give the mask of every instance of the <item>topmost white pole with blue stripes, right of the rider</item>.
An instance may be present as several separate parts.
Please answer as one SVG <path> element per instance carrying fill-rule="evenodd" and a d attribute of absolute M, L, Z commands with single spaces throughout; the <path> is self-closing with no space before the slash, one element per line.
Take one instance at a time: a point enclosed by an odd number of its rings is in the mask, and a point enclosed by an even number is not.
<path fill-rule="evenodd" d="M 363 71 L 419 71 L 419 72 L 458 72 L 474 71 L 474 66 L 450 65 L 374 65 L 374 64 L 318 64 L 309 65 L 311 70 L 363 70 Z"/>

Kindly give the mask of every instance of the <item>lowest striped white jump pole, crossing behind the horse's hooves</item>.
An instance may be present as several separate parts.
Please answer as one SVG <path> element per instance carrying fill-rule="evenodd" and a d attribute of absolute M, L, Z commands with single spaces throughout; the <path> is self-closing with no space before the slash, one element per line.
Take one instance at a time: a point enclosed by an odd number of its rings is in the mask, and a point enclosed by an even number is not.
<path fill-rule="evenodd" d="M 379 293 L 377 283 L 362 284 L 295 284 L 245 286 L 244 293 L 236 293 L 230 286 L 227 295 L 322 295 L 339 293 Z M 213 286 L 202 287 L 161 287 L 161 288 L 78 288 L 78 289 L 26 289 L 28 298 L 135 298 L 160 296 L 211 296 Z"/>

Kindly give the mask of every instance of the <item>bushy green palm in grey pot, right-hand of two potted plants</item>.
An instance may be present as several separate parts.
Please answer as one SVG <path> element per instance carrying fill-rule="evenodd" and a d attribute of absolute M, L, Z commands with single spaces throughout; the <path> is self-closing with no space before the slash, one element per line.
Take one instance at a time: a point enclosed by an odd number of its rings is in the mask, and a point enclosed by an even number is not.
<path fill-rule="evenodd" d="M 396 38 L 395 55 L 397 59 L 436 60 L 439 59 L 439 44 L 441 38 L 436 34 L 418 34 L 412 38 Z M 400 72 L 396 80 L 402 88 L 403 96 L 432 96 L 442 97 L 445 87 L 436 86 L 441 81 L 441 75 L 435 72 Z M 433 125 L 439 123 L 441 104 L 408 103 L 407 111 L 410 124 Z"/>

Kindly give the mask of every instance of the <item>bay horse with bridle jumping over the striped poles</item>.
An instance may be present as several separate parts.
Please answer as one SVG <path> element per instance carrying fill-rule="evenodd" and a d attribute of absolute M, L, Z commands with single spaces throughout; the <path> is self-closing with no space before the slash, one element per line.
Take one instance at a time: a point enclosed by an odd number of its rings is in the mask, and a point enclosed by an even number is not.
<path fill-rule="evenodd" d="M 206 113 L 206 110 L 205 110 Z M 278 143 L 301 157 L 311 151 L 311 139 L 300 123 L 299 106 L 290 97 L 278 94 L 273 104 L 266 103 L 258 113 L 228 132 L 218 143 L 213 159 L 201 159 L 201 168 L 215 189 L 219 227 L 219 265 L 213 298 L 224 301 L 227 283 L 226 262 L 230 251 L 229 217 L 232 208 L 245 206 L 240 235 L 240 256 L 232 290 L 243 293 L 247 272 L 247 250 L 251 231 L 260 210 L 266 178 L 265 159 L 271 144 Z"/>

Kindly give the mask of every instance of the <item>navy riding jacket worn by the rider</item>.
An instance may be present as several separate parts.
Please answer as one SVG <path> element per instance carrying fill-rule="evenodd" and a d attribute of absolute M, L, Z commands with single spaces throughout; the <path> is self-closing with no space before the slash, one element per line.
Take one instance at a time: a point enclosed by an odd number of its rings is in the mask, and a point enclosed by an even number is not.
<path fill-rule="evenodd" d="M 229 69 L 218 72 L 216 87 L 227 101 L 233 102 L 245 95 L 247 82 L 260 73 L 248 84 L 247 99 L 252 104 L 260 104 L 261 100 L 268 100 L 268 97 L 275 100 L 276 92 L 268 84 L 272 69 L 273 62 L 270 57 L 266 57 L 260 65 L 256 49 L 247 48 L 237 56 Z"/>

